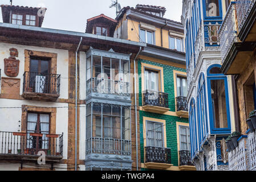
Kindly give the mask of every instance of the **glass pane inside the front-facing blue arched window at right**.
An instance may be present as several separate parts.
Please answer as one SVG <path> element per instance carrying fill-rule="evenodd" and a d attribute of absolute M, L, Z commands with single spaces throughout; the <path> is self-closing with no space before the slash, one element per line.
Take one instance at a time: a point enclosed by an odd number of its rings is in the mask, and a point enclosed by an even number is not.
<path fill-rule="evenodd" d="M 211 92 L 214 127 L 227 128 L 225 81 L 211 80 Z"/>

